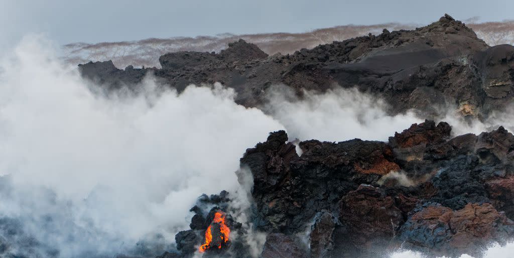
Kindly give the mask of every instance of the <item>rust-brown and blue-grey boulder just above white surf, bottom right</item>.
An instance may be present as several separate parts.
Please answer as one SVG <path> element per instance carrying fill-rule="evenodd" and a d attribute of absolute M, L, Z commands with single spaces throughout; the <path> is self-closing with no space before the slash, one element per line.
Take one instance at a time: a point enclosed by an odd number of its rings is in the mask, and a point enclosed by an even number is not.
<path fill-rule="evenodd" d="M 490 204 L 468 204 L 457 211 L 430 205 L 415 210 L 400 229 L 399 238 L 409 247 L 458 256 L 463 252 L 480 255 L 489 242 L 502 243 L 513 234 L 512 220 Z"/>

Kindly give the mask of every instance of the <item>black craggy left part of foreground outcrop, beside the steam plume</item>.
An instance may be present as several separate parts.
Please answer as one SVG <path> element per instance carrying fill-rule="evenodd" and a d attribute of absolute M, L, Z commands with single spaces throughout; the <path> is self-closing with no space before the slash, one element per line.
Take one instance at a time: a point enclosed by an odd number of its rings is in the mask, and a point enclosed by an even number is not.
<path fill-rule="evenodd" d="M 337 210 L 341 197 L 361 183 L 377 182 L 381 175 L 399 169 L 391 149 L 383 142 L 286 142 L 284 131 L 248 149 L 241 158 L 253 175 L 255 226 L 263 230 L 295 232 L 321 209 Z"/>

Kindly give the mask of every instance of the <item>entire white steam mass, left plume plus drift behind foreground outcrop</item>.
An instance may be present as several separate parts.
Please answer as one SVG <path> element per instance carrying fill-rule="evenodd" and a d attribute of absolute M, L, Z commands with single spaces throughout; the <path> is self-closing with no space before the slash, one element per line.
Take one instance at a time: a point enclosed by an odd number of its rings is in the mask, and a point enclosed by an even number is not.
<path fill-rule="evenodd" d="M 137 96 L 105 96 L 53 49 L 30 36 L 0 59 L 0 242 L 26 256 L 153 255 L 141 243 L 173 248 L 201 193 L 228 190 L 236 207 L 248 207 L 248 186 L 234 172 L 271 131 L 285 129 L 290 140 L 385 141 L 422 121 L 388 116 L 383 102 L 353 89 L 300 101 L 279 87 L 268 115 L 235 104 L 220 84 L 178 94 L 152 76 Z M 263 235 L 248 241 L 258 255 Z"/>

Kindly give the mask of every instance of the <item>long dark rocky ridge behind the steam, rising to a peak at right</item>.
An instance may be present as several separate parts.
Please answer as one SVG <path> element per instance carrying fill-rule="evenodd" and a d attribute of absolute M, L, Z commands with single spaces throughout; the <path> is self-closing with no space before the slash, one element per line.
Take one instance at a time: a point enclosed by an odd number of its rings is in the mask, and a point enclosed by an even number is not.
<path fill-rule="evenodd" d="M 445 15 L 415 30 L 384 29 L 380 35 L 285 56 L 268 57 L 240 40 L 220 53 L 165 54 L 160 69 L 120 70 L 107 61 L 80 65 L 80 70 L 108 89 L 127 85 L 137 90 L 146 73 L 179 91 L 189 84 L 221 82 L 234 88 L 237 103 L 252 107 L 266 103 L 274 84 L 284 84 L 299 96 L 303 90 L 324 91 L 337 84 L 379 95 L 390 104 L 390 113 L 414 108 L 432 117 L 450 106 L 464 116 L 482 118 L 512 102 L 513 49 L 488 47 L 463 23 Z"/>

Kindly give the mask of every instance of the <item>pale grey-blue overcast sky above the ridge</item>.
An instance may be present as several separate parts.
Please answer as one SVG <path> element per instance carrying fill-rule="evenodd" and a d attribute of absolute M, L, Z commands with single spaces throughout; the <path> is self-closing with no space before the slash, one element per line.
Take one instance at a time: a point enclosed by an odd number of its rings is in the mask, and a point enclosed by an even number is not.
<path fill-rule="evenodd" d="M 347 24 L 428 24 L 444 13 L 457 20 L 514 20 L 511 0 L 0 0 L 0 6 L 0 47 L 29 33 L 67 44 L 305 32 Z"/>

